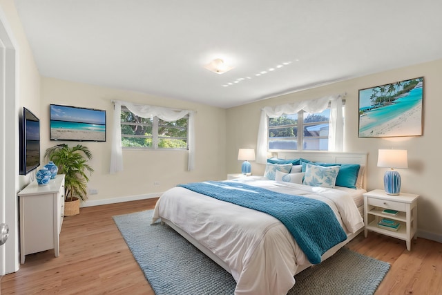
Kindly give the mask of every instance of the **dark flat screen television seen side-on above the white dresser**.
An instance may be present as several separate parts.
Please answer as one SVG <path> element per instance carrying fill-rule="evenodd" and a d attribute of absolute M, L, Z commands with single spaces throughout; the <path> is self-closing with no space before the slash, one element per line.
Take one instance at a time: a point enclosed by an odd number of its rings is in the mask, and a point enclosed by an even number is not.
<path fill-rule="evenodd" d="M 40 120 L 23 108 L 19 125 L 19 173 L 26 175 L 40 166 Z"/>

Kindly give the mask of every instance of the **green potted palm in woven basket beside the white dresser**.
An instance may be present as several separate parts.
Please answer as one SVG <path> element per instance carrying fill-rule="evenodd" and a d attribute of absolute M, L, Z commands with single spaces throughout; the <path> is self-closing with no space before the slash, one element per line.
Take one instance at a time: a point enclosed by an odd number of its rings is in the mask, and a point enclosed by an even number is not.
<path fill-rule="evenodd" d="M 58 173 L 64 174 L 64 216 L 79 213 L 79 200 L 86 200 L 89 181 L 86 171 L 92 175 L 94 169 L 88 164 L 92 158 L 87 146 L 58 144 L 46 149 L 44 158 L 58 166 Z"/>

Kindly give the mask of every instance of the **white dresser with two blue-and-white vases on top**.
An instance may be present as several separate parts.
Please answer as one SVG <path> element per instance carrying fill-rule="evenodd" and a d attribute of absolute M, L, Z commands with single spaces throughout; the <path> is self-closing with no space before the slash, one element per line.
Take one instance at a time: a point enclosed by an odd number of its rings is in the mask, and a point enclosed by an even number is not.
<path fill-rule="evenodd" d="M 31 182 L 18 193 L 20 203 L 20 262 L 27 254 L 54 249 L 60 254 L 60 231 L 64 215 L 64 175 L 48 185 Z"/>

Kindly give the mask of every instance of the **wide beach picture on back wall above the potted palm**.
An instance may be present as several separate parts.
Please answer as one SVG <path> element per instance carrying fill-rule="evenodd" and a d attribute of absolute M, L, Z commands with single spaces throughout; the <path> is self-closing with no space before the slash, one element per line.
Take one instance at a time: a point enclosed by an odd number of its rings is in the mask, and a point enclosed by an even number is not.
<path fill-rule="evenodd" d="M 106 142 L 106 111 L 50 104 L 50 140 Z"/>

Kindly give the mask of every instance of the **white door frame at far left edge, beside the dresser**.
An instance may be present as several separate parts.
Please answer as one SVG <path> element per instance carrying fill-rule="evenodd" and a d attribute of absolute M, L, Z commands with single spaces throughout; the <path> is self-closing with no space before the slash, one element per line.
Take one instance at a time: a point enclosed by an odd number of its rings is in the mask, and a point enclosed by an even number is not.
<path fill-rule="evenodd" d="M 8 241 L 0 246 L 0 276 L 19 269 L 19 58 L 18 46 L 0 8 L 0 222 L 9 226 Z"/>

